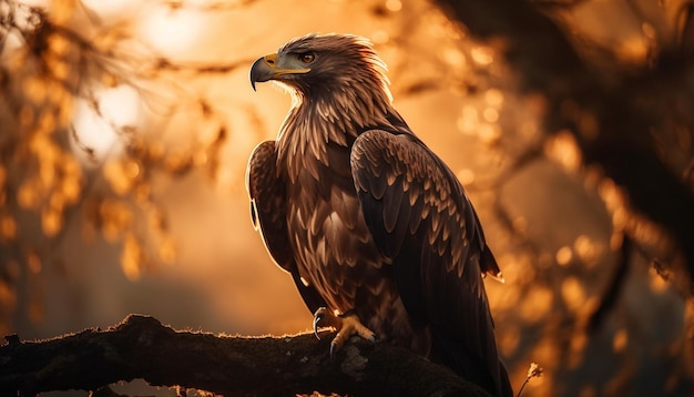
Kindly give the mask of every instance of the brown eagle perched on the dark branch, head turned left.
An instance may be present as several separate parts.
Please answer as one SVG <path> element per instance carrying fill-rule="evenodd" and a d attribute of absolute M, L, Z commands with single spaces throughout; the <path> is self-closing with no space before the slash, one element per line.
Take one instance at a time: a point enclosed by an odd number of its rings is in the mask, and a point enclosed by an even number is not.
<path fill-rule="evenodd" d="M 386 64 L 350 34 L 307 34 L 257 59 L 251 83 L 292 95 L 246 183 L 256 230 L 292 275 L 330 356 L 358 335 L 511 396 L 482 276 L 501 272 L 453 172 L 392 105 Z"/>

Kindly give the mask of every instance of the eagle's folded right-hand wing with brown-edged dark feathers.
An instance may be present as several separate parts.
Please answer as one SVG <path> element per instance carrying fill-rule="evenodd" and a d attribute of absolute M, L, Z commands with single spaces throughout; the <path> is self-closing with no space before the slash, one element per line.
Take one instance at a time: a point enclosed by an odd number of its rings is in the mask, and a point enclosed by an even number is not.
<path fill-rule="evenodd" d="M 408 314 L 430 325 L 433 355 L 500 390 L 481 278 L 490 267 L 481 261 L 493 256 L 462 186 L 414 134 L 367 131 L 355 141 L 350 161 L 367 226 L 392 261 Z"/>

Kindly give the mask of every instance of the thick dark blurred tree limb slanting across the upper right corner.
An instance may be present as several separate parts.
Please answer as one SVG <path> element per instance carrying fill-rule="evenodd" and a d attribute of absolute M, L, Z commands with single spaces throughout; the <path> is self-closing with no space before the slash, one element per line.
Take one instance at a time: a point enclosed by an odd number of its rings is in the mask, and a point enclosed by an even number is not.
<path fill-rule="evenodd" d="M 684 277 L 688 276 L 691 282 L 694 193 L 682 174 L 666 163 L 669 153 L 659 153 L 662 145 L 657 136 L 673 134 L 672 125 L 693 134 L 691 54 L 662 49 L 652 67 L 616 65 L 611 71 L 598 62 L 591 63 L 589 54 L 580 53 L 567 30 L 541 12 L 542 2 L 438 0 L 438 3 L 472 35 L 502 43 L 501 52 L 518 72 L 522 89 L 547 98 L 545 130 L 552 133 L 568 129 L 584 161 L 599 164 L 624 189 L 633 210 L 666 231 L 688 269 L 683 269 Z M 585 123 L 586 118 L 590 123 Z M 667 266 L 678 273 L 676 262 Z M 682 289 L 688 289 L 684 292 L 691 295 L 692 284 Z"/>

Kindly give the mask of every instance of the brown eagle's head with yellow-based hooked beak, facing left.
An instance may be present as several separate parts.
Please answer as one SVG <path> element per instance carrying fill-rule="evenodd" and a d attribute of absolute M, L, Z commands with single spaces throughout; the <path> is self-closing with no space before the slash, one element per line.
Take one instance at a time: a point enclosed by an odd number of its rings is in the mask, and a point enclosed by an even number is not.
<path fill-rule="evenodd" d="M 347 93 L 363 101 L 382 95 L 391 102 L 386 64 L 371 43 L 351 34 L 307 34 L 279 51 L 258 58 L 251 68 L 251 84 L 276 81 L 299 99 Z"/>

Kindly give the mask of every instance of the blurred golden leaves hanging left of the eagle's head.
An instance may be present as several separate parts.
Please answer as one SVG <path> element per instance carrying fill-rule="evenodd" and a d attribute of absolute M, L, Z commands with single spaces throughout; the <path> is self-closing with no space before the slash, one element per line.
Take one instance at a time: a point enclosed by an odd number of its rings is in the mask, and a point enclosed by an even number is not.
<path fill-rule="evenodd" d="M 123 272 L 136 279 L 143 269 L 176 257 L 166 213 L 152 193 L 154 175 L 182 176 L 202 167 L 215 176 L 225 122 L 203 98 L 173 100 L 157 90 L 175 91 L 172 80 L 180 75 L 225 73 L 236 64 L 176 64 L 133 39 L 131 28 L 104 23 L 79 0 L 53 0 L 45 7 L 0 1 L 2 333 L 10 330 L 4 322 L 22 312 L 33 322 L 41 318 L 37 275 L 45 264 L 60 267 L 55 247 L 67 223 L 84 217 L 86 236 L 98 233 L 121 244 Z M 123 86 L 162 114 L 185 106 L 214 131 L 206 141 L 182 147 L 166 145 L 135 124 L 121 125 L 102 112 L 101 101 L 104 91 Z M 118 156 L 99 156 L 82 142 L 73 124 L 81 104 L 115 133 L 111 150 L 120 149 Z M 88 133 L 105 133 L 94 130 Z M 28 307 L 18 307 L 22 301 Z"/>

